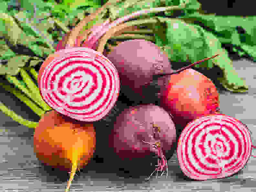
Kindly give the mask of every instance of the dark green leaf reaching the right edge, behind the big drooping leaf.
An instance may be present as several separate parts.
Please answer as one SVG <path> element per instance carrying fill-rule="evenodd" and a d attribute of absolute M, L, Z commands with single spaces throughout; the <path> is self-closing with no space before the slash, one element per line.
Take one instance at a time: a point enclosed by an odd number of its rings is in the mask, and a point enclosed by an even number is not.
<path fill-rule="evenodd" d="M 244 48 L 245 52 L 256 59 L 255 52 L 252 51 L 256 46 L 256 16 L 216 16 L 196 12 L 179 18 L 204 27 L 218 37 L 221 43 L 231 43 Z M 238 27 L 245 33 L 240 32 Z"/>

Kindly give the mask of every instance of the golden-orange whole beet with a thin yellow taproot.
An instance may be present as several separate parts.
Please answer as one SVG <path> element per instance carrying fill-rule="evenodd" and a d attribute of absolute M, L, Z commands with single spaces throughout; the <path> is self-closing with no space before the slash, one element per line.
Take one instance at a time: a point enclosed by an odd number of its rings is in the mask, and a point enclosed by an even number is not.
<path fill-rule="evenodd" d="M 92 123 L 80 122 L 56 111 L 42 116 L 34 133 L 34 152 L 47 165 L 70 171 L 66 191 L 77 169 L 93 156 L 96 133 Z"/>

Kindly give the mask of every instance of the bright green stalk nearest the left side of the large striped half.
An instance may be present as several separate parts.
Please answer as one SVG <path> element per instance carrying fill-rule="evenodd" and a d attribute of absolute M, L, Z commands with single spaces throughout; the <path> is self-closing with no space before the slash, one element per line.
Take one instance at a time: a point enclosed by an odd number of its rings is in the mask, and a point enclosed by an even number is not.
<path fill-rule="evenodd" d="M 46 102 L 42 99 L 40 91 L 37 85 L 31 80 L 30 76 L 28 75 L 25 69 L 20 69 L 20 75 L 22 76 L 23 80 L 25 81 L 28 89 L 33 93 L 38 101 L 41 102 L 41 106 L 45 111 L 50 110 L 51 108 L 46 104 Z"/>

